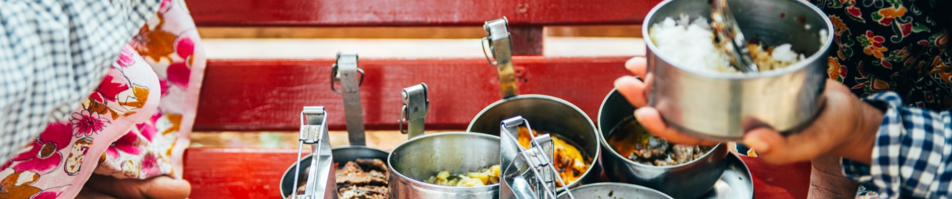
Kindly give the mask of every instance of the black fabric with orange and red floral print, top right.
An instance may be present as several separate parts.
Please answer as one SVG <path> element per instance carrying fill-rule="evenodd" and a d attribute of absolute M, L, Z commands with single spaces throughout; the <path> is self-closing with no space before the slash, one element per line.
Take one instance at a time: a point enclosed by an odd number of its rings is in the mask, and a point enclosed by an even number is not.
<path fill-rule="evenodd" d="M 952 108 L 947 0 L 816 0 L 835 30 L 827 72 L 860 97 L 893 90 L 909 106 Z"/>

